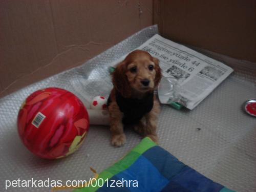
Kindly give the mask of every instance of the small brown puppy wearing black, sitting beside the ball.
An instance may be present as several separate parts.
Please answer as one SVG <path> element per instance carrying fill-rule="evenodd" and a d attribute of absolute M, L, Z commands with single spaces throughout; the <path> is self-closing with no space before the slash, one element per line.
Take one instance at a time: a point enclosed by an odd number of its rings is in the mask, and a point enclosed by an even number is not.
<path fill-rule="evenodd" d="M 121 146 L 126 138 L 123 124 L 132 124 L 141 136 L 158 140 L 156 134 L 160 105 L 154 89 L 161 79 L 159 60 L 141 50 L 131 52 L 116 67 L 114 88 L 108 100 L 111 143 Z"/>

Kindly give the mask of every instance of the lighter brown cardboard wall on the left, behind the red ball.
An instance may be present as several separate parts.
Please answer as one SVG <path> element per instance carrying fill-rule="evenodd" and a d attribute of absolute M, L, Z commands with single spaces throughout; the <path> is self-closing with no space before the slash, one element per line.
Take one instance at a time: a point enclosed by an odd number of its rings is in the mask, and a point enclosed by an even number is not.
<path fill-rule="evenodd" d="M 0 97 L 152 25 L 153 2 L 0 1 Z"/>

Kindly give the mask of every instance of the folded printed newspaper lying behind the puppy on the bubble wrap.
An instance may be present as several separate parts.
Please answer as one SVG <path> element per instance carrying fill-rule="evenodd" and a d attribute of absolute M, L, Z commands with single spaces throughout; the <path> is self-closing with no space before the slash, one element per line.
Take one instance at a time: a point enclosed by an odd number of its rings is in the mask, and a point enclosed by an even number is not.
<path fill-rule="evenodd" d="M 181 89 L 180 104 L 193 110 L 233 69 L 215 59 L 156 34 L 137 49 L 147 51 L 160 61 L 164 77 L 177 79 Z M 113 63 L 113 67 L 126 55 Z"/>

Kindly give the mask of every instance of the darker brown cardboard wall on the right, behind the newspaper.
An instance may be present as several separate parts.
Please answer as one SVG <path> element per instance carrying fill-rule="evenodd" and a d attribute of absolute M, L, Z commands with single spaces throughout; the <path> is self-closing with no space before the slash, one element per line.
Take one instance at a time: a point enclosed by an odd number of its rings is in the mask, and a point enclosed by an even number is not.
<path fill-rule="evenodd" d="M 255 0 L 154 0 L 154 23 L 181 44 L 256 62 Z"/>

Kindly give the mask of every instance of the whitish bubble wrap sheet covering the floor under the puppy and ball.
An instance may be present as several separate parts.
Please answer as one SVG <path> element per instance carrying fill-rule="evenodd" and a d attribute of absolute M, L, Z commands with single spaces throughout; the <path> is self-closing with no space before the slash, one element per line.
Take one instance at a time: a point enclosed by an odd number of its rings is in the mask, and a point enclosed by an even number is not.
<path fill-rule="evenodd" d="M 84 65 L 57 74 L 0 99 L 0 191 L 5 180 L 89 180 L 90 166 L 101 172 L 139 143 L 126 130 L 127 143 L 110 145 L 109 127 L 91 126 L 73 155 L 44 160 L 32 155 L 16 129 L 19 106 L 35 90 L 59 87 L 76 94 L 89 105 L 96 95 L 108 96 L 112 88 L 108 67 L 120 56 L 158 33 L 157 26 L 143 29 L 106 50 Z M 251 77 L 250 77 L 251 78 Z M 256 97 L 255 81 L 234 72 L 193 111 L 161 106 L 158 122 L 160 145 L 201 174 L 238 191 L 256 191 L 256 118 L 241 110 L 242 103 Z M 50 188 L 8 188 L 8 191 L 50 191 Z M 65 190 L 67 191 L 67 190 Z"/>

